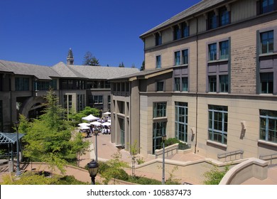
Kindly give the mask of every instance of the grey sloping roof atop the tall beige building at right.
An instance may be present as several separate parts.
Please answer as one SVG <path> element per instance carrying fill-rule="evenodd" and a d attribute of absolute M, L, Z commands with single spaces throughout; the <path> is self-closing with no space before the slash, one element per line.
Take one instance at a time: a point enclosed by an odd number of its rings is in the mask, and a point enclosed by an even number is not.
<path fill-rule="evenodd" d="M 180 12 L 179 14 L 169 18 L 167 21 L 164 21 L 163 23 L 159 24 L 158 26 L 152 28 L 149 31 L 146 31 L 146 33 L 143 33 L 140 38 L 144 38 L 145 36 L 148 36 L 149 34 L 159 31 L 163 29 L 165 26 L 170 26 L 173 23 L 177 23 L 178 21 L 181 21 L 185 18 L 191 18 L 192 16 L 195 16 L 197 14 L 200 14 L 200 12 L 212 9 L 212 7 L 221 4 L 222 2 L 225 2 L 227 0 L 202 0 L 199 3 L 195 4 L 194 6 L 191 6 L 188 9 L 185 9 L 185 11 Z"/>

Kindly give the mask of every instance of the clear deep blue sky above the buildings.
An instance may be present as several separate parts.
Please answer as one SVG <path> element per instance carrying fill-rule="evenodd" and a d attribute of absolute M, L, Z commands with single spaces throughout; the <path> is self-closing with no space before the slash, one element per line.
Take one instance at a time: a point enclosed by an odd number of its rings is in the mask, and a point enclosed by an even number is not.
<path fill-rule="evenodd" d="M 75 65 L 90 51 L 100 65 L 141 67 L 142 33 L 200 0 L 1 0 L 0 60 Z"/>

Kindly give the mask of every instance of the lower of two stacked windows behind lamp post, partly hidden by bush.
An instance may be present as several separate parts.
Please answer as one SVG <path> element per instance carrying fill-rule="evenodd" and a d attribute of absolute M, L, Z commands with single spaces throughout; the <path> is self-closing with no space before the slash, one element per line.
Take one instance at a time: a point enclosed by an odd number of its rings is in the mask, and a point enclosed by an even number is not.
<path fill-rule="evenodd" d="M 153 123 L 153 154 L 162 147 L 162 135 L 166 134 L 166 122 Z"/>

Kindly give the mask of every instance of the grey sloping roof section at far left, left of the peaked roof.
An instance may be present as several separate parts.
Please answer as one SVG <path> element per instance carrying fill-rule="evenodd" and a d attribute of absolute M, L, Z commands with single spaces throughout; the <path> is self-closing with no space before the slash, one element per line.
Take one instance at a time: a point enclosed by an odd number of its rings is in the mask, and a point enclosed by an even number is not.
<path fill-rule="evenodd" d="M 33 75 L 40 80 L 51 80 L 51 77 L 60 77 L 57 72 L 47 66 L 6 60 L 0 60 L 0 71 L 12 72 L 15 75 Z"/>

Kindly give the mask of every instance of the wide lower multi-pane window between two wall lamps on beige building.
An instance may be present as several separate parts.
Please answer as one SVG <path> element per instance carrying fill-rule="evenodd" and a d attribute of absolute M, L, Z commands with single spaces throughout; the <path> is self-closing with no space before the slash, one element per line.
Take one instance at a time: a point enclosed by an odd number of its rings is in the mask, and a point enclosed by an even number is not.
<path fill-rule="evenodd" d="M 227 144 L 228 107 L 209 105 L 209 139 Z"/>

